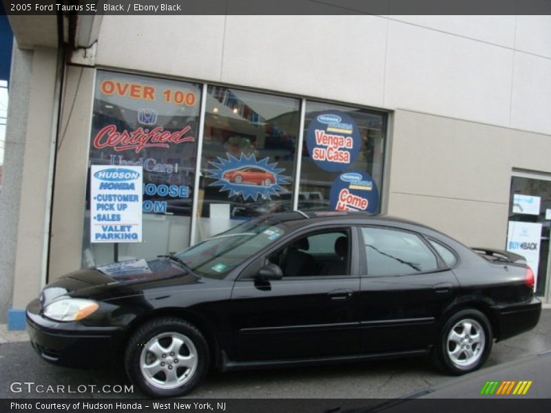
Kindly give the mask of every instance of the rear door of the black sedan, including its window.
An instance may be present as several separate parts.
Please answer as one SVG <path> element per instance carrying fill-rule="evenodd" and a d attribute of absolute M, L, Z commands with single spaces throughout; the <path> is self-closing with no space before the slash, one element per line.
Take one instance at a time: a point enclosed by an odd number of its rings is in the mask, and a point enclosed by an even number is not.
<path fill-rule="evenodd" d="M 435 323 L 459 285 L 434 245 L 450 253 L 450 264 L 456 255 L 411 231 L 362 226 L 359 232 L 362 351 L 421 350 L 433 344 Z"/>

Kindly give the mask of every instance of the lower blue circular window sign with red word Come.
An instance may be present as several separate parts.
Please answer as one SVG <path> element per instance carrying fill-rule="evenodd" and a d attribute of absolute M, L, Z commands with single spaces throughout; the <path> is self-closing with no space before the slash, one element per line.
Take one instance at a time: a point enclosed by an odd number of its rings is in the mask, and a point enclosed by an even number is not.
<path fill-rule="evenodd" d="M 335 211 L 375 213 L 379 207 L 377 184 L 367 172 L 339 173 L 331 185 L 329 203 Z"/>

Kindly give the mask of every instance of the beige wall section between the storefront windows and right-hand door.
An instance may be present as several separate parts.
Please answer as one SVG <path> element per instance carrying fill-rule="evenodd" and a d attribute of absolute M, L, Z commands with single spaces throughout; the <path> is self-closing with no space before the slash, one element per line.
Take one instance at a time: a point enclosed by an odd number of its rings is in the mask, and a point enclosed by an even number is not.
<path fill-rule="evenodd" d="M 512 169 L 551 172 L 551 136 L 397 110 L 388 214 L 504 248 Z"/>

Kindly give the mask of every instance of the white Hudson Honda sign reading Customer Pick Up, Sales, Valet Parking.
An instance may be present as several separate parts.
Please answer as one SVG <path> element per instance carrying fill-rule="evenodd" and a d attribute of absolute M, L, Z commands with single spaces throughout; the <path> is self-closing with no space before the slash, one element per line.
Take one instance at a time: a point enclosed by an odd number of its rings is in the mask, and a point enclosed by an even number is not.
<path fill-rule="evenodd" d="M 142 167 L 90 167 L 90 242 L 142 241 Z"/>

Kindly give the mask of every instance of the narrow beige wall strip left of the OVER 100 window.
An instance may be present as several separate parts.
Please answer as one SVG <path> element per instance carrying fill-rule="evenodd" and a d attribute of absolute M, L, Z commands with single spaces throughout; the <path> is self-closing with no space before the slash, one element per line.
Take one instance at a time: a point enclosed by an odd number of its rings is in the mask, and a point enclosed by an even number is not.
<path fill-rule="evenodd" d="M 81 268 L 95 76 L 94 69 L 74 66 L 67 67 L 65 75 L 52 207 L 50 281 Z"/>

